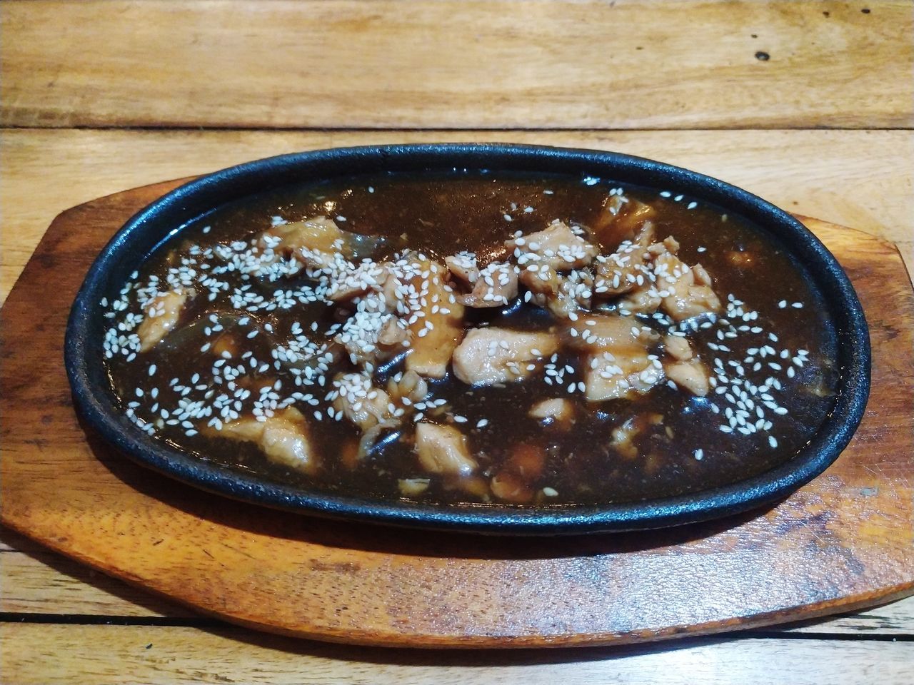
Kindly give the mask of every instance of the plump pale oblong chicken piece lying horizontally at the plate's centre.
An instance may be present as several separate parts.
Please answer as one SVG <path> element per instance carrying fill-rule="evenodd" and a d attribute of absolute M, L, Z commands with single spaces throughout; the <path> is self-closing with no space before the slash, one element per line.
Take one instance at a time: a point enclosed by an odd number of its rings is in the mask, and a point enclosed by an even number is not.
<path fill-rule="evenodd" d="M 553 333 L 474 328 L 454 350 L 454 375 L 468 385 L 518 381 L 537 371 L 542 359 L 556 350 Z"/>

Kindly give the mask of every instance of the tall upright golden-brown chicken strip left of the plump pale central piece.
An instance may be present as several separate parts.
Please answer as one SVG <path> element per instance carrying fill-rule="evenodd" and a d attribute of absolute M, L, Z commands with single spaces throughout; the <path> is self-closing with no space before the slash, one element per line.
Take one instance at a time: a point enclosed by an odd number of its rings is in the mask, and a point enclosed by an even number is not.
<path fill-rule="evenodd" d="M 409 324 L 407 371 L 426 378 L 443 378 L 451 354 L 463 337 L 463 305 L 444 282 L 444 267 L 425 260 L 413 285 L 420 293 L 421 316 Z"/>

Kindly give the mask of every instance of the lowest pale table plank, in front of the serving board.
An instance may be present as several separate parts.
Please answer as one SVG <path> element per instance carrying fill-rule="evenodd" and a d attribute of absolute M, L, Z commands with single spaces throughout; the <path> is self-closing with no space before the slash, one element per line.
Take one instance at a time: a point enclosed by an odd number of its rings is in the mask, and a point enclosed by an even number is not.
<path fill-rule="evenodd" d="M 827 654 L 828 658 L 823 659 Z M 6 625 L 0 665 L 17 685 L 112 682 L 907 685 L 914 642 L 688 640 L 675 647 L 521 652 L 351 648 L 240 628 Z M 865 665 L 865 668 L 864 668 Z M 129 674 L 129 676 L 127 676 Z"/>

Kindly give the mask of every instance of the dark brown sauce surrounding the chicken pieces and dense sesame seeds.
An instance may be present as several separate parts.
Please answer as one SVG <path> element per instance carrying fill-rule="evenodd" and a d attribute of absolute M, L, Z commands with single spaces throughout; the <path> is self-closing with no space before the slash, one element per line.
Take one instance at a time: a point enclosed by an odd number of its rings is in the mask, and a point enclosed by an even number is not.
<path fill-rule="evenodd" d="M 378 260 L 406 247 L 419 249 L 439 260 L 460 250 L 475 252 L 481 261 L 486 256 L 500 258 L 505 253 L 502 248 L 505 239 L 515 231 L 525 234 L 539 231 L 556 218 L 588 227 L 602 211 L 609 189 L 616 185 L 587 184 L 565 176 L 544 178 L 542 175 L 455 172 L 374 175 L 282 188 L 222 207 L 184 227 L 143 264 L 139 281 L 145 282 L 149 274 L 164 279 L 169 259 L 174 263 L 175 248 L 186 249 L 193 243 L 208 245 L 244 240 L 269 228 L 272 216 L 282 216 L 288 221 L 315 215 L 329 216 L 347 231 L 388 237 L 388 243 L 374 255 Z M 544 193 L 547 190 L 552 193 Z M 468 386 L 452 374 L 441 381 L 430 381 L 433 395 L 448 399 L 449 416 L 466 418 L 465 422 L 453 425 L 467 434 L 483 479 L 490 479 L 503 469 L 518 449 L 533 449 L 545 456 L 541 475 L 530 483 L 536 492 L 533 502 L 639 501 L 706 490 L 745 479 L 791 458 L 813 436 L 834 403 L 834 331 L 824 314 L 820 296 L 811 290 L 802 267 L 760 230 L 738 216 L 723 218 L 717 207 L 693 206 L 687 197 L 676 201 L 673 196 L 662 197 L 657 191 L 643 188 L 625 186 L 624 191 L 627 196 L 658 210 L 657 236 L 660 239 L 674 236 L 681 246 L 680 258 L 688 264 L 701 262 L 713 276 L 714 289 L 721 300 L 732 294 L 745 302 L 746 311 L 758 312 L 756 320 L 733 319 L 732 324 L 737 328 L 759 327 L 761 332 L 739 332 L 736 338 L 722 341 L 718 332 L 724 327 L 716 323 L 690 333 L 691 340 L 708 365 L 717 357 L 725 367 L 733 360 L 742 364 L 742 360 L 750 356 L 749 348 L 771 345 L 775 354 L 759 360 L 763 367 L 758 372 L 746 369 L 746 377 L 756 384 L 768 376 L 780 379 L 782 387 L 776 401 L 786 409 L 786 414 L 767 412 L 765 416 L 773 424 L 771 430 L 745 436 L 738 432 L 721 432 L 719 427 L 727 424 L 724 411 L 731 405 L 723 394 L 713 392 L 707 397 L 696 397 L 659 385 L 651 393 L 633 399 L 589 404 L 580 394 L 568 394 L 564 387 L 546 385 L 543 374 L 534 374 L 525 381 L 504 387 Z M 532 209 L 525 211 L 527 207 Z M 505 215 L 511 220 L 506 220 Z M 211 228 L 204 233 L 204 227 Z M 611 251 L 615 246 L 600 247 Z M 741 257 L 745 260 L 740 261 Z M 251 291 L 268 297 L 277 288 L 289 287 L 289 283 L 249 282 Z M 290 282 L 306 283 L 307 279 L 295 277 Z M 786 306 L 782 306 L 785 301 Z M 795 302 L 801 303 L 802 309 L 794 307 Z M 198 329 L 206 328 L 207 317 L 224 309 L 224 304 L 218 300 L 197 297 L 188 304 L 175 331 L 169 335 L 179 336 L 182 329 L 186 330 L 186 326 L 195 321 Z M 140 308 L 132 302 L 128 311 L 139 312 Z M 322 330 L 333 323 L 332 312 L 323 303 L 244 315 L 251 320 L 247 326 L 238 326 L 245 333 L 253 324 L 261 331 L 267 324 L 272 327 L 269 335 L 261 334 L 250 340 L 246 335 L 240 336 L 255 358 L 266 360 L 270 359 L 271 341 L 288 339 L 293 322 L 298 321 L 306 328 L 312 321 L 320 321 Z M 121 319 L 122 312 L 113 321 Z M 467 321 L 474 326 L 488 323 L 511 329 L 540 330 L 550 325 L 551 317 L 536 307 L 515 304 L 504 309 L 468 310 Z M 650 318 L 638 317 L 638 325 L 651 326 L 660 332 L 665 330 Z M 770 333 L 776 335 L 776 342 L 771 340 Z M 130 362 L 123 354 L 114 354 L 108 360 L 112 385 L 122 397 L 125 410 L 133 402 L 137 404 L 133 407 L 135 416 L 143 416 L 146 420 L 160 417 L 162 407 L 176 406 L 179 401 L 180 392 L 169 385 L 173 378 L 178 379 L 179 388 L 200 385 L 199 391 L 192 390 L 186 395 L 188 398 L 204 392 L 206 370 L 214 359 L 211 352 L 200 352 L 207 337 L 199 331 L 184 335 L 185 344 L 160 344 L 149 352 L 136 355 Z M 209 339 L 215 337 L 218 336 L 211 333 Z M 708 343 L 724 342 L 729 352 L 707 347 Z M 787 358 L 781 358 L 782 350 L 789 351 Z M 798 350 L 809 352 L 802 366 L 792 364 Z M 580 379 L 580 360 L 576 353 L 561 349 L 559 360 L 559 365 L 568 364 L 573 369 L 566 376 L 566 382 Z M 772 363 L 780 364 L 781 370 L 771 368 L 768 364 Z M 348 368 L 347 364 L 344 361 L 340 367 Z M 150 374 L 153 365 L 154 372 Z M 792 378 L 785 374 L 791 366 L 794 368 Z M 382 367 L 376 374 L 379 385 L 401 368 L 401 364 Z M 200 378 L 191 383 L 194 374 L 200 374 Z M 250 375 L 256 378 L 258 372 L 252 370 Z M 273 369 L 264 372 L 262 377 L 280 378 L 283 388 L 291 386 L 288 374 L 277 374 Z M 157 388 L 156 397 L 150 395 L 153 387 Z M 137 396 L 136 388 L 143 389 L 142 397 Z M 573 427 L 569 430 L 558 425 L 544 427 L 527 415 L 530 406 L 547 397 L 565 397 L 574 403 Z M 711 410 L 712 403 L 717 406 L 718 413 Z M 151 412 L 154 404 L 157 405 L 155 414 Z M 314 410 L 322 410 L 322 420 L 314 419 Z M 324 404 L 304 406 L 303 414 L 309 418 L 311 437 L 321 455 L 322 466 L 314 476 L 272 463 L 250 443 L 206 437 L 199 432 L 187 436 L 186 427 L 181 425 L 165 425 L 156 430 L 155 435 L 230 469 L 250 471 L 307 490 L 399 499 L 403 497 L 399 479 L 430 479 L 427 490 L 409 499 L 451 502 L 487 501 L 491 497 L 468 493 L 453 479 L 423 473 L 413 450 L 411 420 L 407 420 L 399 432 L 389 432 L 366 459 L 350 468 L 339 455 L 341 449 L 351 449 L 357 441 L 356 427 L 345 420 L 327 418 Z M 660 415 L 663 419 L 646 427 L 637 438 L 637 456 L 627 457 L 612 448 L 612 429 L 632 416 L 645 414 Z M 452 418 L 441 420 L 452 421 Z M 486 425 L 477 427 L 484 421 L 487 421 Z M 769 436 L 774 437 L 776 447 L 772 447 Z M 548 495 L 544 494 L 544 488 Z"/>

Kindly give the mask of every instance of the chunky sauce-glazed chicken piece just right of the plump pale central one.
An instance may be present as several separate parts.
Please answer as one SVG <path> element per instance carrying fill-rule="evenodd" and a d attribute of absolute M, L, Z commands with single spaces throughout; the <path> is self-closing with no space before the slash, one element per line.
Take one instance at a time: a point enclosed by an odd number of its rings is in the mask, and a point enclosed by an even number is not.
<path fill-rule="evenodd" d="M 612 314 L 590 314 L 567 328 L 570 347 L 589 350 L 584 364 L 584 395 L 590 402 L 646 393 L 664 377 L 650 346 L 658 334 Z"/>

